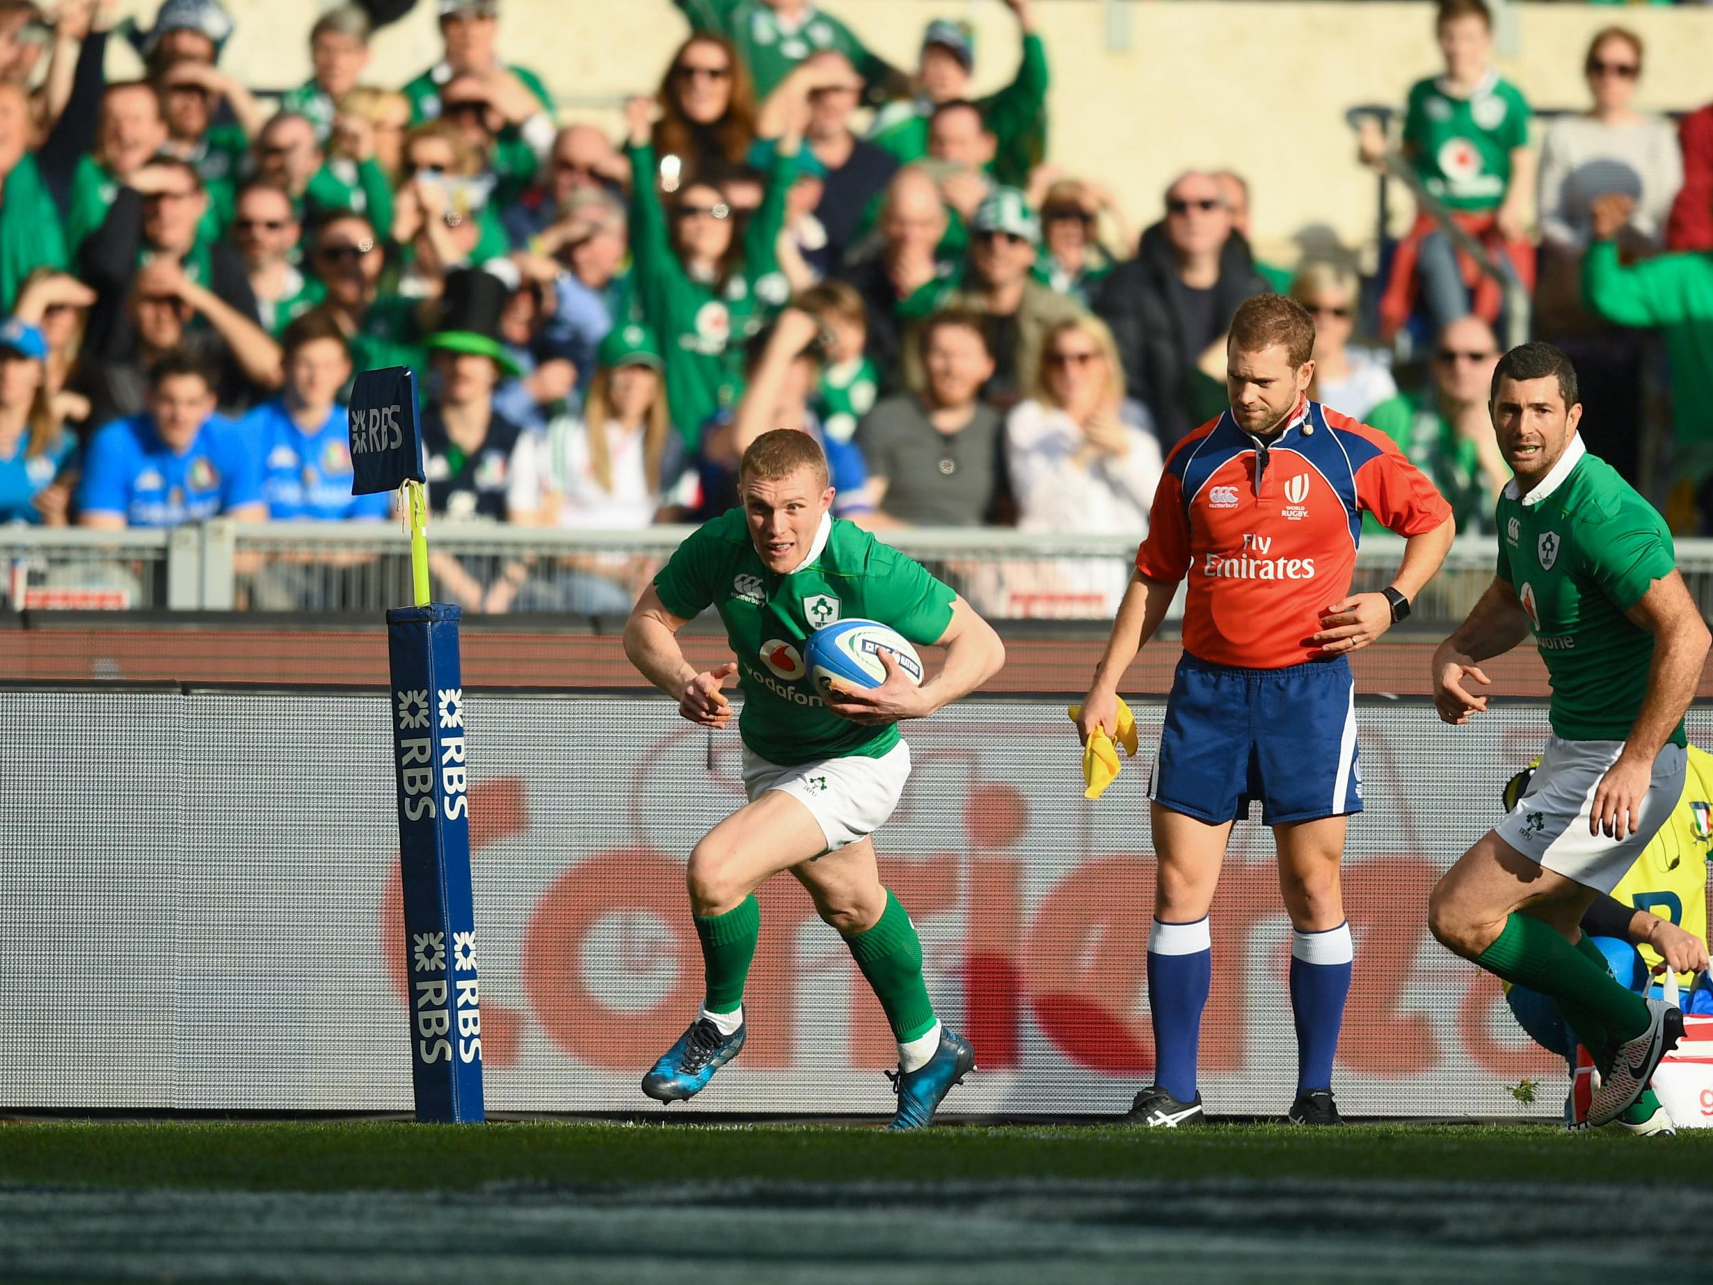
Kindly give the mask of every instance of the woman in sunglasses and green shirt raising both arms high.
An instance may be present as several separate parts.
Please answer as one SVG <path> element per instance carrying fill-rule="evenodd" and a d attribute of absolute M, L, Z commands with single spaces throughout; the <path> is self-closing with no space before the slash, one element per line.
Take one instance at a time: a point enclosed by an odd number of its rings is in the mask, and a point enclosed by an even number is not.
<path fill-rule="evenodd" d="M 702 182 L 678 188 L 668 223 L 648 182 L 656 164 L 654 110 L 649 98 L 629 106 L 632 308 L 660 336 L 671 418 L 694 451 L 702 423 L 737 404 L 743 343 L 790 296 L 778 243 L 802 135 L 779 140 L 766 195 L 742 235 L 725 192 Z"/>

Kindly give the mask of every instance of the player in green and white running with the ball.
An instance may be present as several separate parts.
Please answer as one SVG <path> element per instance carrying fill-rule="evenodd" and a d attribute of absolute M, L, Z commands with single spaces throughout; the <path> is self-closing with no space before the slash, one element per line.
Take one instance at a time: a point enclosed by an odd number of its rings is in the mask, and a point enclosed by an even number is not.
<path fill-rule="evenodd" d="M 750 800 L 690 853 L 706 999 L 642 1078 L 642 1091 L 661 1102 L 689 1098 L 743 1047 L 743 980 L 761 935 L 754 891 L 790 870 L 845 937 L 898 1040 L 898 1115 L 889 1127 L 920 1129 L 975 1067 L 975 1050 L 934 1016 L 922 942 L 880 886 L 870 836 L 910 776 L 898 723 L 973 692 L 999 673 L 1006 648 L 922 565 L 831 516 L 827 461 L 807 433 L 757 437 L 738 468 L 738 497 L 743 507 L 678 547 L 625 625 L 630 663 L 699 726 L 731 720 L 721 687 L 737 675 Z M 697 672 L 677 632 L 709 605 L 738 660 Z M 946 648 L 946 663 L 918 687 L 880 651 L 882 685 L 841 687 L 822 699 L 803 653 L 815 629 L 841 619 L 879 620 L 910 642 Z"/>

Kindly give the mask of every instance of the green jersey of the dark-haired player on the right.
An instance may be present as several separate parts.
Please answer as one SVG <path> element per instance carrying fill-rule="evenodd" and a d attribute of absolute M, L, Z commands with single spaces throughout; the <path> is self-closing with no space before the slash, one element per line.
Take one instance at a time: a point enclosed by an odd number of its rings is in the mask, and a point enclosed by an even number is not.
<path fill-rule="evenodd" d="M 1581 437 L 1528 495 L 1513 480 L 1497 519 L 1499 579 L 1535 627 L 1554 733 L 1627 740 L 1648 690 L 1653 634 L 1624 612 L 1677 565 L 1670 528 Z M 1687 744 L 1682 723 L 1672 744 Z"/>

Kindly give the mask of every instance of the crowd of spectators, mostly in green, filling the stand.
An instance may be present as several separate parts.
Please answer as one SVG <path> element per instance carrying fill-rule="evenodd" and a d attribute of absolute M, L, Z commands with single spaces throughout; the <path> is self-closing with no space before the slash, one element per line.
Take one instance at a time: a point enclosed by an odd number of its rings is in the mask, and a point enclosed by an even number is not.
<path fill-rule="evenodd" d="M 874 528 L 1139 536 L 1165 452 L 1225 406 L 1232 314 L 1271 290 L 1314 317 L 1316 396 L 1389 433 L 1459 529 L 1490 524 L 1504 283 L 1424 212 L 1365 307 L 1346 262 L 1259 262 L 1247 185 L 1211 166 L 1137 235 L 1098 175 L 1047 156 L 1030 0 L 1004 0 L 1021 58 L 985 98 L 959 22 L 898 69 L 812 0 L 675 0 L 689 36 L 617 139 L 498 57 L 497 0 L 425 2 L 444 55 L 403 89 L 367 82 L 353 5 L 315 22 L 315 75 L 264 105 L 219 70 L 218 0 L 166 0 L 125 82 L 96 0 L 0 0 L 0 521 L 385 517 L 349 493 L 341 397 L 409 365 L 445 519 L 695 521 L 788 427 Z M 1590 445 L 1662 500 L 1668 481 L 1698 529 L 1713 106 L 1636 111 L 1643 41 L 1609 27 L 1586 111 L 1542 134 L 1482 0 L 1442 0 L 1435 31 L 1442 74 L 1391 134 L 1367 125 L 1362 159 L 1401 154 L 1530 291 L 1533 331 L 1585 372 Z M 1365 315 L 1379 346 L 1355 343 Z M 1420 377 L 1394 370 L 1408 351 Z M 1663 392 L 1662 461 L 1641 425 Z M 514 572 L 437 562 L 469 608 L 567 605 Z M 591 555 L 577 608 L 622 610 L 629 574 Z"/>

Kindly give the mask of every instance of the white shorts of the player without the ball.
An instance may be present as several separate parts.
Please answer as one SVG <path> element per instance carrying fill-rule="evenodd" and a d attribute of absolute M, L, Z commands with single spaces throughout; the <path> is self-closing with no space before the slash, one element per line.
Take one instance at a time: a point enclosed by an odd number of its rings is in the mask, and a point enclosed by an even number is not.
<path fill-rule="evenodd" d="M 1622 843 L 1590 834 L 1588 812 L 1595 790 L 1622 752 L 1622 740 L 1554 737 L 1528 783 L 1528 793 L 1494 826 L 1494 834 L 1545 869 L 1610 894 L 1677 809 L 1689 769 L 1684 747 L 1667 745 L 1653 761 L 1653 783 L 1643 795 L 1638 828 Z"/>

